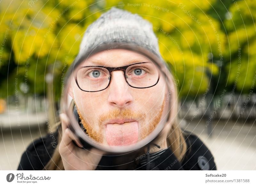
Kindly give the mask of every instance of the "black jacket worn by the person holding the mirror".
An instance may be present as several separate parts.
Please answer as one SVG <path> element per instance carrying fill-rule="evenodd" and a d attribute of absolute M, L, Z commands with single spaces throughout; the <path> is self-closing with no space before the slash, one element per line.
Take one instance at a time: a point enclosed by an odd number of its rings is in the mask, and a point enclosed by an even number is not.
<path fill-rule="evenodd" d="M 188 150 L 181 163 L 180 157 L 177 158 L 172 150 L 167 148 L 150 158 L 147 155 L 131 156 L 130 154 L 128 156 L 103 156 L 96 170 L 216 170 L 212 153 L 204 143 L 188 131 L 184 131 L 183 135 Z M 58 131 L 30 143 L 21 156 L 18 170 L 42 170 L 57 148 L 53 145 L 55 142 L 52 136 L 57 141 Z M 147 158 L 150 161 L 147 161 Z"/>

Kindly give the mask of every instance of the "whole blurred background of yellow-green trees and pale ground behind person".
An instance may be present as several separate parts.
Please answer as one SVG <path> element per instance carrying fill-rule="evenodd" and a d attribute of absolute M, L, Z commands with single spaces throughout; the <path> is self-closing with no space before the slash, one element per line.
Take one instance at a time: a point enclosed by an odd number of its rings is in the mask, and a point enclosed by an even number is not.
<path fill-rule="evenodd" d="M 179 88 L 180 126 L 218 170 L 256 170 L 254 0 L 0 2 L 0 170 L 54 131 L 64 76 L 82 36 L 111 7 L 150 21 Z"/>

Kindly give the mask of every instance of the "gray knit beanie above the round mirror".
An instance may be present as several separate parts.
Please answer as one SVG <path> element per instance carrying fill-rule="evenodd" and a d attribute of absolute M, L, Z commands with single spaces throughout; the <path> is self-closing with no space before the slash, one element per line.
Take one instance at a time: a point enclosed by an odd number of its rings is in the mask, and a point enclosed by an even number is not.
<path fill-rule="evenodd" d="M 152 24 L 138 14 L 115 7 L 103 13 L 87 28 L 80 44 L 79 55 L 113 43 L 140 45 L 162 59 Z"/>

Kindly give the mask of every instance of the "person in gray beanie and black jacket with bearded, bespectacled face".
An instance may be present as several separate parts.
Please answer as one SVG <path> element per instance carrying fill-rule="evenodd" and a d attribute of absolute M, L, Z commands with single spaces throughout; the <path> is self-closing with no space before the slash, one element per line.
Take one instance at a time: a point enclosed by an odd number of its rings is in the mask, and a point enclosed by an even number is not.
<path fill-rule="evenodd" d="M 148 148 L 110 156 L 96 148 L 84 150 L 68 128 L 69 119 L 61 114 L 61 127 L 54 133 L 57 148 L 52 149 L 49 136 L 36 140 L 23 153 L 19 170 L 216 170 L 207 147 L 178 127 L 172 74 L 164 77 L 147 55 L 118 43 L 136 45 L 162 59 L 148 21 L 117 8 L 102 14 L 84 34 L 77 57 L 82 63 L 76 66 L 68 91 L 80 123 L 99 144 L 127 146 L 150 135 L 169 113 L 160 134 Z M 112 47 L 83 58 L 105 44 Z"/>

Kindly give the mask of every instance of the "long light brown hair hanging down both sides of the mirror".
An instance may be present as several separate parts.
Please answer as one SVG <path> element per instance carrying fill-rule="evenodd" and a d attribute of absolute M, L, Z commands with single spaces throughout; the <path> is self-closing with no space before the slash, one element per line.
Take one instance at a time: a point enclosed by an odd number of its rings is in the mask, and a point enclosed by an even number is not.
<path fill-rule="evenodd" d="M 187 144 L 185 142 L 185 138 L 182 134 L 182 131 L 179 127 L 178 120 L 178 110 L 179 110 L 179 100 L 178 100 L 178 88 L 174 83 L 174 78 L 171 73 L 167 74 L 167 83 L 168 87 L 171 88 L 170 96 L 166 98 L 171 105 L 170 117 L 167 122 L 169 122 L 172 127 L 167 135 L 167 145 L 171 148 L 174 155 L 177 157 L 177 160 L 182 162 L 184 154 L 187 151 Z M 62 136 L 62 128 L 61 123 L 57 123 L 57 130 L 59 131 L 58 140 L 57 140 L 57 148 L 52 154 L 51 159 L 46 164 L 43 170 L 65 170 L 63 167 L 62 159 L 59 153 L 59 144 Z"/>

